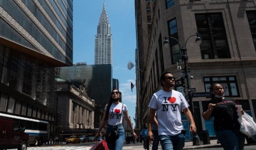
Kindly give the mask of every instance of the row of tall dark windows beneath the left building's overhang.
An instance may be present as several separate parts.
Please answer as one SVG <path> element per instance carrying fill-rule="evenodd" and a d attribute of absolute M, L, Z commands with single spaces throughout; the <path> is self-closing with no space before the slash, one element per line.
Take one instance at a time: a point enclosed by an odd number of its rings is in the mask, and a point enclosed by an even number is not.
<path fill-rule="evenodd" d="M 53 67 L 0 45 L 1 82 L 39 103 L 55 108 L 55 71 Z"/>

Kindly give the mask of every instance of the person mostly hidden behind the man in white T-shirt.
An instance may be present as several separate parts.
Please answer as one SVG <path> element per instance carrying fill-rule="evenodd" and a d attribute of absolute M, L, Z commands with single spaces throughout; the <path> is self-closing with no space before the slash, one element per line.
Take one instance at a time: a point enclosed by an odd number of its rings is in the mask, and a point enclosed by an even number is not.
<path fill-rule="evenodd" d="M 154 121 L 152 123 L 152 133 L 153 133 L 153 143 L 152 143 L 152 150 L 158 150 L 159 145 L 159 136 L 158 136 L 158 122 L 157 122 L 157 113 L 155 114 Z"/>

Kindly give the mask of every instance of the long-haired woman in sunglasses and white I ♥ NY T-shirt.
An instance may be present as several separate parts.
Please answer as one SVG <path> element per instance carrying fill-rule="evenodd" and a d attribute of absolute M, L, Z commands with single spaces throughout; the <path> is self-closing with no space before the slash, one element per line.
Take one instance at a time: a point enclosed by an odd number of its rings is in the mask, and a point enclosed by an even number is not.
<path fill-rule="evenodd" d="M 125 141 L 125 131 L 123 129 L 123 115 L 128 123 L 131 134 L 136 138 L 137 135 L 134 133 L 131 120 L 128 115 L 128 108 L 122 103 L 122 93 L 114 89 L 111 92 L 109 103 L 105 106 L 105 112 L 100 122 L 99 131 L 95 135 L 94 139 L 97 139 L 100 135 L 100 131 L 105 124 L 107 124 L 107 135 L 112 133 L 113 130 L 117 131 L 119 138 L 115 142 L 107 142 L 109 150 L 122 150 L 123 143 Z M 107 138 L 107 137 L 106 137 Z"/>

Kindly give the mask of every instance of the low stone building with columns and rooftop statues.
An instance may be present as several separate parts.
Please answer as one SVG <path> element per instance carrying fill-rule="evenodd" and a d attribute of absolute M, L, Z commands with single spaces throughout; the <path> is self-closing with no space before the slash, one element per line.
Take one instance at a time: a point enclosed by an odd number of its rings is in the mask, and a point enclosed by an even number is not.
<path fill-rule="evenodd" d="M 88 134 L 87 129 L 94 129 L 95 101 L 81 92 L 70 81 L 57 79 L 59 127 L 63 134 Z"/>

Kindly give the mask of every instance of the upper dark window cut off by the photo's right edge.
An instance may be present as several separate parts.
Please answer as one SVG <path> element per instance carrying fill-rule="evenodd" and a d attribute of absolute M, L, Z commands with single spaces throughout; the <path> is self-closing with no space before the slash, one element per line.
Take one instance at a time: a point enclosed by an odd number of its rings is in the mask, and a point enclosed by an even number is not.
<path fill-rule="evenodd" d="M 251 29 L 251 36 L 253 38 L 254 48 L 256 50 L 256 11 L 247 11 L 246 14 Z"/>

